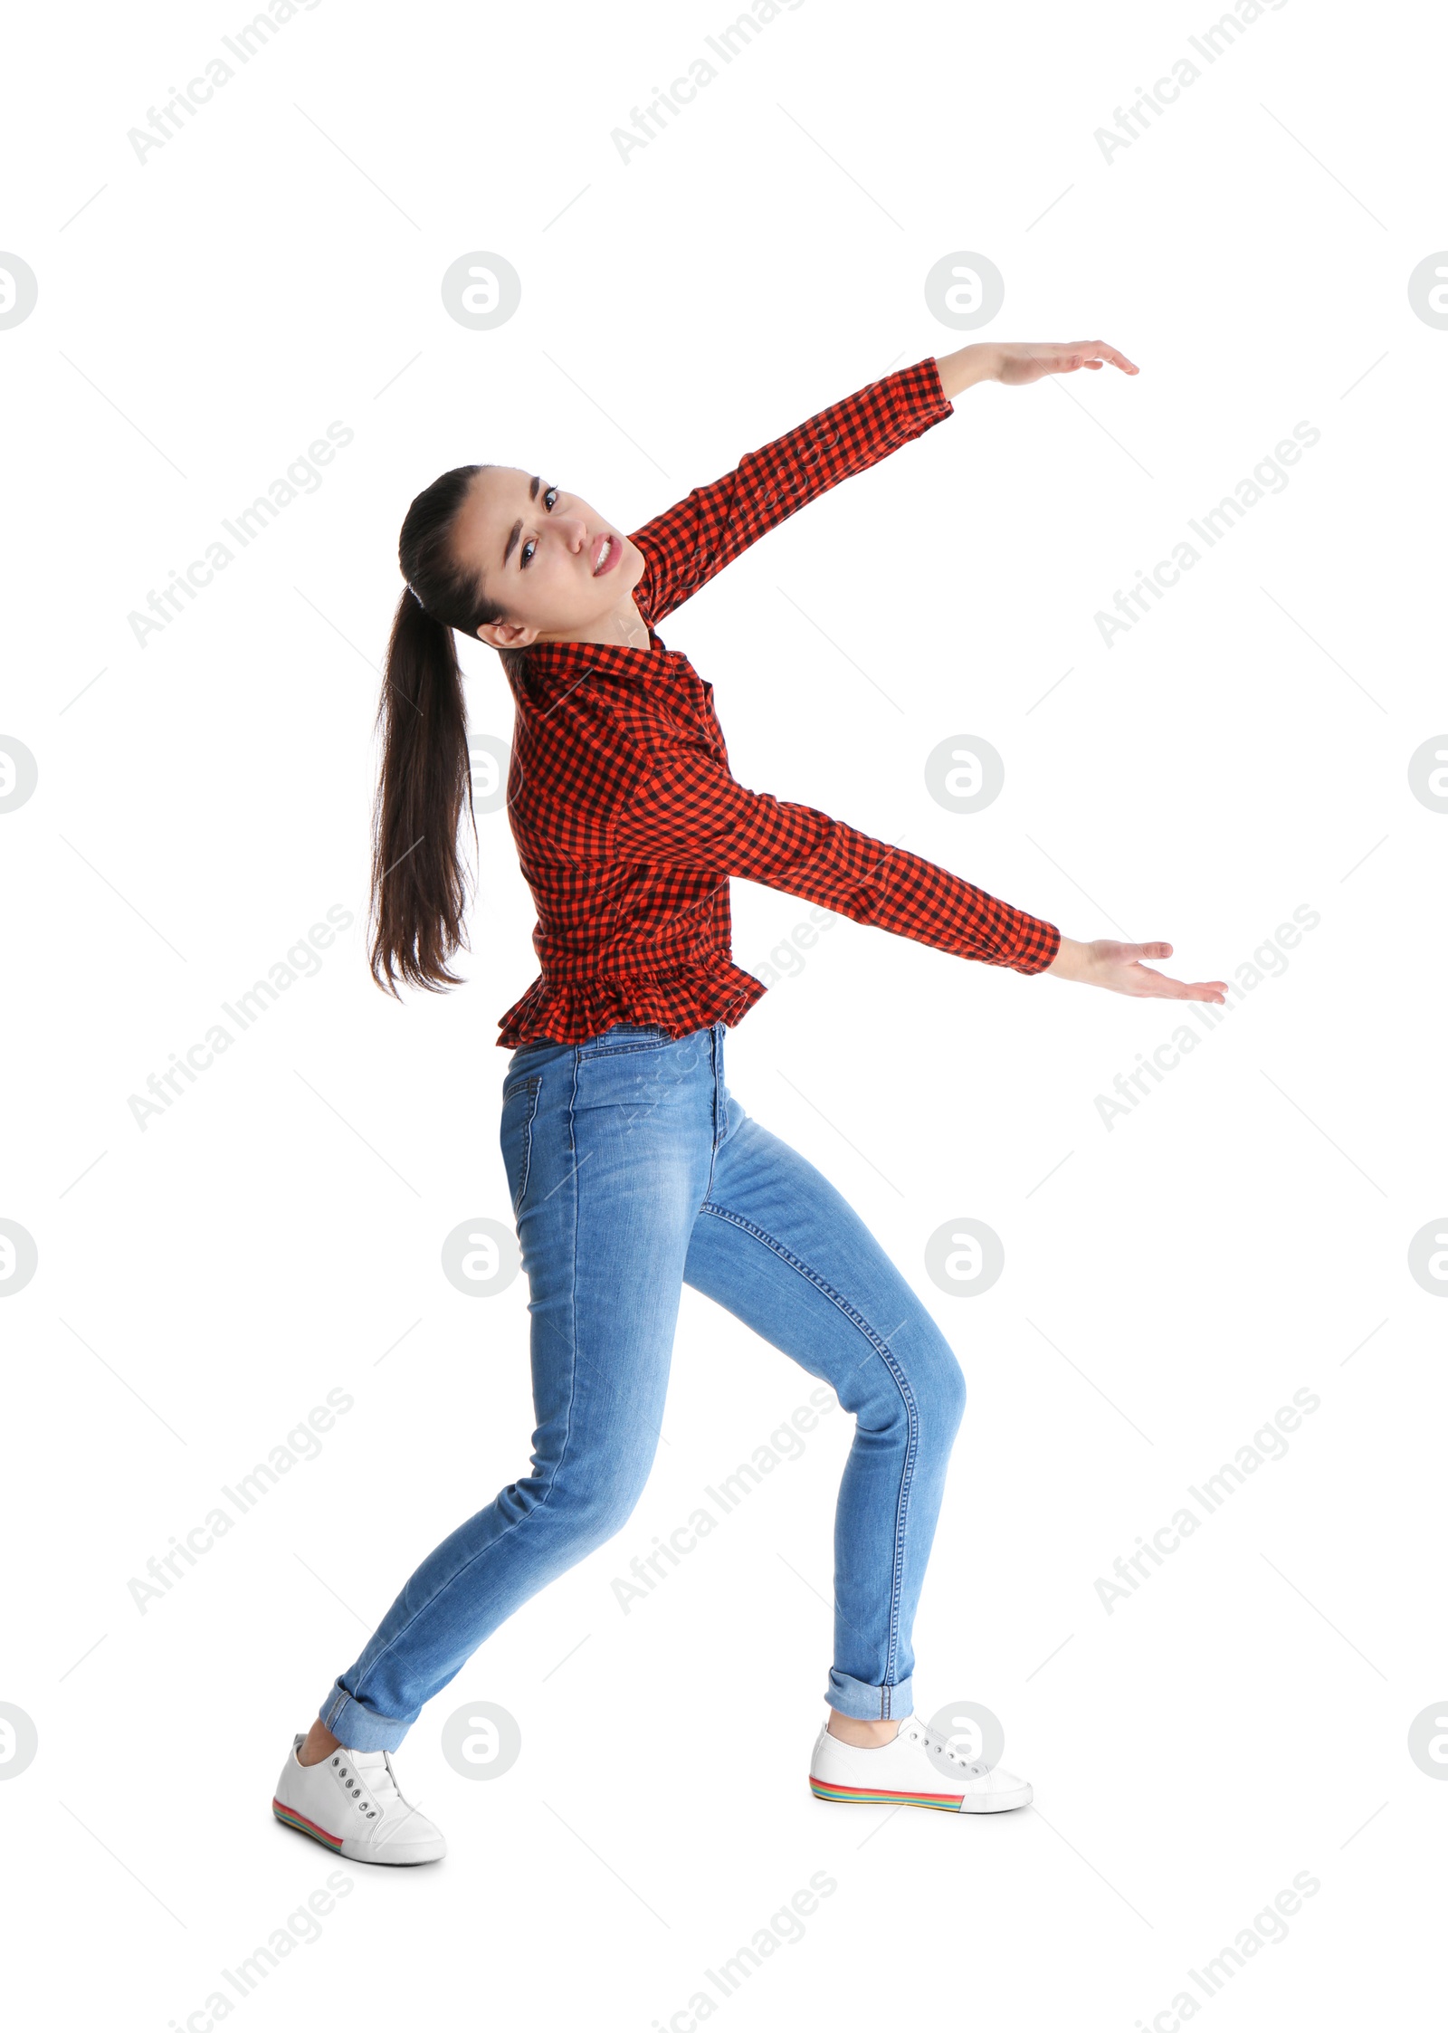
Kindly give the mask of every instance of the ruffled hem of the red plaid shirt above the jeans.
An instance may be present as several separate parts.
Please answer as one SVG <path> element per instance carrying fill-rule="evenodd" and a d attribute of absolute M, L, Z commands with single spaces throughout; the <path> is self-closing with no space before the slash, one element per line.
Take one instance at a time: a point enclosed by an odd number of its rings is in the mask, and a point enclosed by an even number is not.
<path fill-rule="evenodd" d="M 498 1045 L 582 1045 L 616 1023 L 657 1025 L 669 1037 L 687 1037 L 714 1023 L 736 1025 L 765 992 L 728 956 L 647 974 L 594 974 L 584 982 L 539 974 L 498 1019 Z"/>

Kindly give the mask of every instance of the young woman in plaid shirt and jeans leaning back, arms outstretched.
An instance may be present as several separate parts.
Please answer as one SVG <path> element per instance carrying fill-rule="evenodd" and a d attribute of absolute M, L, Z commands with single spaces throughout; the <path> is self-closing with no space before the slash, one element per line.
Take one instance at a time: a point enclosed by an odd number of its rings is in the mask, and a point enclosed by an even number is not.
<path fill-rule="evenodd" d="M 724 1033 L 765 992 L 730 958 L 730 876 L 964 960 L 1129 996 L 1222 1002 L 1224 982 L 1080 943 L 931 862 L 730 775 L 712 685 L 655 628 L 730 559 L 952 415 L 980 380 L 1137 368 L 1100 342 L 966 346 L 870 382 L 624 537 L 578 494 L 462 466 L 407 510 L 378 712 L 372 972 L 456 984 L 468 712 L 454 630 L 498 651 L 515 699 L 508 815 L 541 974 L 502 1016 L 502 1159 L 529 1279 L 533 1472 L 405 1582 L 287 1757 L 277 1815 L 356 1862 L 421 1864 L 441 1832 L 390 1752 L 488 1632 L 618 1533 L 663 1419 L 683 1283 L 834 1389 L 854 1441 L 834 1529 L 834 1663 L 809 1785 L 830 1801 L 1021 1807 L 913 1712 L 911 1622 L 960 1364 L 860 1218 L 724 1084 Z M 850 539 L 864 541 L 866 533 Z M 472 809 L 472 805 L 470 805 Z M 476 838 L 476 825 L 474 825 Z M 720 1675 L 765 1685 L 755 1663 Z"/>

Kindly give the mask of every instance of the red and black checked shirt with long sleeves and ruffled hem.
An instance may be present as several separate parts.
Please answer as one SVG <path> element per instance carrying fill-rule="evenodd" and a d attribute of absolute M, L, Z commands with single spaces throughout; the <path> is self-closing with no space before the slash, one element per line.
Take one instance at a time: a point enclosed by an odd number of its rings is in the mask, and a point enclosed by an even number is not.
<path fill-rule="evenodd" d="M 964 960 L 1019 974 L 1051 964 L 1055 925 L 824 811 L 738 785 L 714 687 L 655 634 L 765 531 L 952 409 L 933 358 L 834 403 L 632 533 L 647 561 L 632 594 L 647 649 L 537 642 L 508 657 L 508 817 L 543 972 L 500 1019 L 500 1045 L 574 1045 L 616 1023 L 673 1037 L 738 1023 L 765 984 L 730 956 L 730 876 Z"/>

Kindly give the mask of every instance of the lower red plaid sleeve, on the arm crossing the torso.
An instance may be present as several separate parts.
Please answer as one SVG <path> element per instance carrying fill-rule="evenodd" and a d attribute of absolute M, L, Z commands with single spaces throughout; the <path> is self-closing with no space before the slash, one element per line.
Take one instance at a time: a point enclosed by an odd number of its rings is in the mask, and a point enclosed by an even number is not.
<path fill-rule="evenodd" d="M 1055 925 L 1001 903 L 962 876 L 811 805 L 746 791 L 702 748 L 673 750 L 645 775 L 614 821 L 614 846 L 659 868 L 744 876 L 828 905 L 856 925 L 1041 974 L 1062 943 Z"/>

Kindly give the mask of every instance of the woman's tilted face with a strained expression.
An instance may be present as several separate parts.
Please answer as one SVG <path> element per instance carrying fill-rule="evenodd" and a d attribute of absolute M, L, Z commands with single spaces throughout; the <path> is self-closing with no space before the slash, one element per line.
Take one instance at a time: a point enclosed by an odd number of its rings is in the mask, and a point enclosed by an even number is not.
<path fill-rule="evenodd" d="M 474 476 L 454 553 L 508 616 L 478 630 L 492 649 L 596 640 L 608 616 L 637 612 L 630 596 L 645 573 L 643 551 L 578 494 L 517 466 Z"/>

